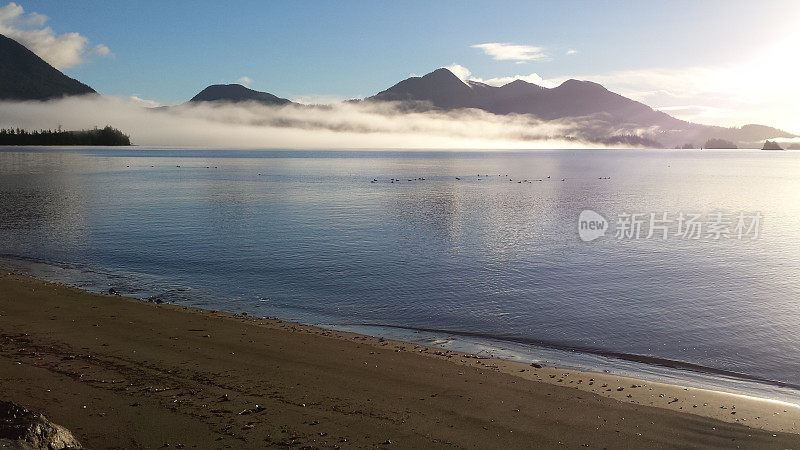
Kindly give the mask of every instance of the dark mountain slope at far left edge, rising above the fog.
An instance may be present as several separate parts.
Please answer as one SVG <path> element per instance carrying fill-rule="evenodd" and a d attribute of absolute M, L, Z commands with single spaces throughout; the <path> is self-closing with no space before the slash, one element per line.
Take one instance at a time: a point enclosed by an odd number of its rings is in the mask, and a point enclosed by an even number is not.
<path fill-rule="evenodd" d="M 24 45 L 0 34 L 0 100 L 46 100 L 96 93 L 47 64 Z"/>

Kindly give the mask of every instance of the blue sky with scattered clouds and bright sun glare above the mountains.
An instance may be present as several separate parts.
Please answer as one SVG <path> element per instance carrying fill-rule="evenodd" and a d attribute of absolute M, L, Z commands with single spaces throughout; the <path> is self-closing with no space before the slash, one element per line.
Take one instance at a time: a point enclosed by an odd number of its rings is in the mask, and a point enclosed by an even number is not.
<path fill-rule="evenodd" d="M 700 123 L 800 133 L 800 2 L 0 2 L 0 34 L 102 94 L 177 104 L 215 83 L 306 103 L 450 67 L 597 81 Z"/>

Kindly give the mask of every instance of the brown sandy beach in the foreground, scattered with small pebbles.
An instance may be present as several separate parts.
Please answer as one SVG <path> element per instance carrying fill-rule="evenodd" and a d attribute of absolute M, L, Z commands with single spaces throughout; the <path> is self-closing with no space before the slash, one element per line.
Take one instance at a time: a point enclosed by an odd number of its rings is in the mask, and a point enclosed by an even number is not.
<path fill-rule="evenodd" d="M 0 274 L 0 400 L 89 448 L 800 448 L 794 405 Z"/>

